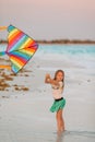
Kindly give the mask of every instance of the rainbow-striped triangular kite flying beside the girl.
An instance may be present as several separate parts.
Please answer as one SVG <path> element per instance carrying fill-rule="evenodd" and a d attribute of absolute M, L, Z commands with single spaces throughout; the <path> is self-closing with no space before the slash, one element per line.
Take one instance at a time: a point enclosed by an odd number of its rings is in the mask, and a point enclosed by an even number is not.
<path fill-rule="evenodd" d="M 1 29 L 4 28 L 5 26 Z M 7 29 L 8 47 L 5 51 L 0 51 L 0 56 L 8 55 L 12 71 L 17 73 L 36 52 L 38 44 L 13 25 L 9 25 Z"/>

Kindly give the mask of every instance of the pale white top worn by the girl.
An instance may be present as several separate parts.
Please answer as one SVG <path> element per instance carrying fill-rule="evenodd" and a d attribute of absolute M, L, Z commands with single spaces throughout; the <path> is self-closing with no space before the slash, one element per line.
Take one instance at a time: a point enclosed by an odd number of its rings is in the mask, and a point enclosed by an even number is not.
<path fill-rule="evenodd" d="M 51 85 L 52 87 L 52 96 L 55 99 L 59 99 L 62 97 L 62 92 L 63 92 L 63 82 L 59 82 L 59 86 L 57 85 Z"/>

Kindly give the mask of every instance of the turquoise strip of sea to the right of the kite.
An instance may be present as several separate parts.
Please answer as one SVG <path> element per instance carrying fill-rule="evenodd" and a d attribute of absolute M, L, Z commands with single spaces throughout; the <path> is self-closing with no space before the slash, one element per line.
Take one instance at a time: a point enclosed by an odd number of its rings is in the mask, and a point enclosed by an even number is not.
<path fill-rule="evenodd" d="M 40 45 L 39 50 L 41 54 L 95 56 L 95 45 Z"/>

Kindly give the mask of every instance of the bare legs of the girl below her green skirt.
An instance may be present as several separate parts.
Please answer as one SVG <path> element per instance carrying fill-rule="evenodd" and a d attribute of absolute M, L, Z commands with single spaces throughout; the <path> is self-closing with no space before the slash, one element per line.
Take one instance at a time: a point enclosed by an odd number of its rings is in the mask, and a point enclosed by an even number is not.
<path fill-rule="evenodd" d="M 64 130 L 64 120 L 62 118 L 62 109 L 59 109 L 57 111 L 56 118 L 57 118 L 58 132 L 61 132 Z"/>

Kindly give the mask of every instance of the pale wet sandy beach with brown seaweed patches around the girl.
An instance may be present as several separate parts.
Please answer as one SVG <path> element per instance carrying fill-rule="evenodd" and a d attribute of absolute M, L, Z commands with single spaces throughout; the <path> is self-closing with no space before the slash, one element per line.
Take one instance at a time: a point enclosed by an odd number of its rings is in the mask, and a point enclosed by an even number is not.
<path fill-rule="evenodd" d="M 57 56 L 57 55 L 55 55 Z M 48 55 L 47 55 L 48 58 Z M 95 61 L 95 58 L 92 59 Z M 3 60 L 4 61 L 4 60 Z M 92 66 L 93 67 L 93 66 Z M 95 142 L 95 67 L 35 55 L 16 75 L 0 69 L 0 142 Z M 66 72 L 66 131 L 57 134 L 46 73 Z"/>

